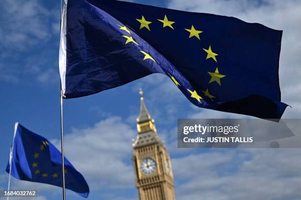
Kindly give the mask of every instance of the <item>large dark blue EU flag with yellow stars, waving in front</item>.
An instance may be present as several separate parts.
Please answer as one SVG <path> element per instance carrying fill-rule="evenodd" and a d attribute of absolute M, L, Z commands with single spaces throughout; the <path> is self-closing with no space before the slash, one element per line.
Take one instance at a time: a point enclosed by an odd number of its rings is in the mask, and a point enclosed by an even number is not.
<path fill-rule="evenodd" d="M 233 17 L 117 0 L 68 0 L 60 75 L 64 98 L 146 75 L 170 77 L 193 104 L 278 119 L 282 31 Z"/>

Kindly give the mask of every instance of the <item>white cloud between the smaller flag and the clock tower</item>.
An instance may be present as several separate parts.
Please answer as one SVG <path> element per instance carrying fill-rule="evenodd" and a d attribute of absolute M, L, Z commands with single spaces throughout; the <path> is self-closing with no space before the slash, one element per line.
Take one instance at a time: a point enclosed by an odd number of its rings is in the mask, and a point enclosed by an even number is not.
<path fill-rule="evenodd" d="M 110 117 L 91 128 L 74 128 L 65 136 L 65 155 L 91 190 L 132 188 L 131 139 L 136 134 L 119 117 Z"/>

